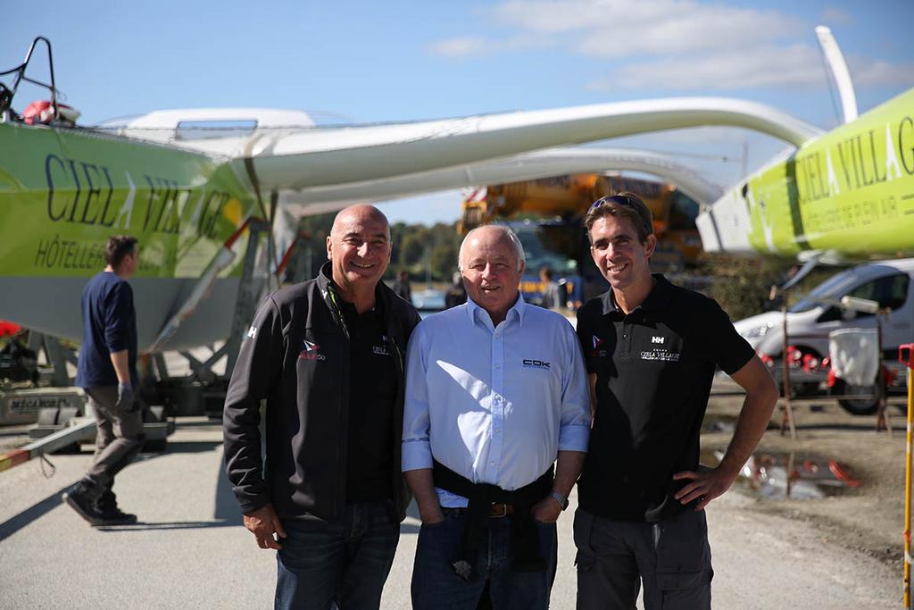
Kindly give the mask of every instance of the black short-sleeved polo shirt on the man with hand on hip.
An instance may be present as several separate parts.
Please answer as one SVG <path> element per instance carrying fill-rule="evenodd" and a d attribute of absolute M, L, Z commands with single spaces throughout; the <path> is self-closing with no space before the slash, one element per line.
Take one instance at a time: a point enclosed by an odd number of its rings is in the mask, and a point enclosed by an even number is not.
<path fill-rule="evenodd" d="M 685 508 L 673 498 L 696 470 L 701 422 L 715 369 L 754 356 L 712 299 L 654 274 L 654 288 L 627 316 L 612 290 L 578 311 L 597 410 L 580 477 L 579 506 L 608 519 L 656 521 Z"/>

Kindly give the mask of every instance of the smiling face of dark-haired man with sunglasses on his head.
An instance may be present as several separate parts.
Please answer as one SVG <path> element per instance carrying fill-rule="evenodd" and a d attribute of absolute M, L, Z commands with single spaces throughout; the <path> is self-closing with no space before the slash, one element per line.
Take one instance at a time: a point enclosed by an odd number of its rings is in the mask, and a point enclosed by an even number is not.
<path fill-rule="evenodd" d="M 644 242 L 638 241 L 638 230 L 631 219 L 600 217 L 590 227 L 590 244 L 593 262 L 614 291 L 625 293 L 651 285 L 648 259 L 657 239 L 648 235 Z"/>

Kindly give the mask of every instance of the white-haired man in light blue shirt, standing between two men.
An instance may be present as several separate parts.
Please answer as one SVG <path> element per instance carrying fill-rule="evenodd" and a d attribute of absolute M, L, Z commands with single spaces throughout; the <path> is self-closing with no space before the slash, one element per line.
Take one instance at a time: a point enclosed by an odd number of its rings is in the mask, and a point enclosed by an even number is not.
<path fill-rule="evenodd" d="M 555 522 L 590 436 L 579 342 L 519 294 L 513 231 L 471 231 L 459 262 L 467 303 L 424 319 L 407 355 L 403 471 L 422 519 L 413 607 L 472 610 L 488 583 L 494 608 L 546 608 Z"/>

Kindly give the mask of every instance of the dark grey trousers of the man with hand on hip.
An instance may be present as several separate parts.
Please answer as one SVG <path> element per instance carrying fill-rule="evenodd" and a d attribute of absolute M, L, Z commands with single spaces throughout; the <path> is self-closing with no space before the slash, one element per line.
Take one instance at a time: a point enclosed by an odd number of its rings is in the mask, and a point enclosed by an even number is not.
<path fill-rule="evenodd" d="M 578 608 L 632 610 L 644 583 L 644 608 L 711 607 L 711 547 L 705 511 L 684 510 L 656 523 L 602 519 L 578 509 Z"/>

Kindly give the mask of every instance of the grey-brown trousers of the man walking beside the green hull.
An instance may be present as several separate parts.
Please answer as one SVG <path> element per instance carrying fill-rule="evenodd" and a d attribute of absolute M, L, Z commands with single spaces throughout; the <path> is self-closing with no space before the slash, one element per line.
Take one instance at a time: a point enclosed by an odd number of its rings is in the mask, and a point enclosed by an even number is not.
<path fill-rule="evenodd" d="M 91 495 L 101 497 L 114 485 L 114 475 L 133 461 L 143 447 L 143 412 L 124 412 L 117 408 L 117 386 L 85 388 L 98 433 L 95 436 L 95 459 L 86 473 L 92 485 Z"/>

